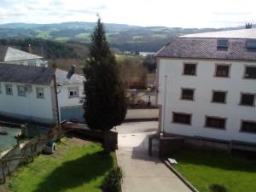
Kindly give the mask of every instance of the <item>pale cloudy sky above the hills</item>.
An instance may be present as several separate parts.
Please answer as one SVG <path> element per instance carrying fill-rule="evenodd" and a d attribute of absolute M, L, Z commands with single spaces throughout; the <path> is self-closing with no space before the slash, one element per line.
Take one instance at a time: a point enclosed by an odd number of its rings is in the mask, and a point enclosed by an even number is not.
<path fill-rule="evenodd" d="M 96 21 L 135 26 L 256 24 L 256 0 L 0 0 L 0 23 Z"/>

